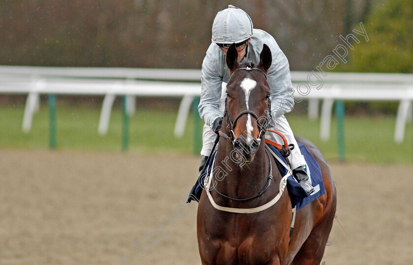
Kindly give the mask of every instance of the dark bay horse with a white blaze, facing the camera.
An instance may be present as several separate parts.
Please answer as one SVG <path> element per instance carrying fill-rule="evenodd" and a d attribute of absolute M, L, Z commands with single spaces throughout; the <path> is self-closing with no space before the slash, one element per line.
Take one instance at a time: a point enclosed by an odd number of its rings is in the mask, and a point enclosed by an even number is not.
<path fill-rule="evenodd" d="M 224 169 L 225 177 L 214 181 L 214 188 L 207 188 L 208 192 L 203 190 L 201 194 L 197 237 L 203 265 L 303 265 L 322 261 L 335 216 L 336 189 L 321 151 L 310 141 L 295 137 L 317 160 L 326 193 L 296 212 L 290 238 L 291 199 L 287 189 L 280 192 L 283 176 L 267 154 L 265 141 L 261 141 L 270 111 L 266 74 L 271 61 L 266 44 L 255 67 L 238 64 L 234 44 L 227 51 L 231 79 L 227 85 L 222 137 L 213 166 Z M 258 212 L 225 210 L 258 209 L 277 196 L 275 204 Z"/>

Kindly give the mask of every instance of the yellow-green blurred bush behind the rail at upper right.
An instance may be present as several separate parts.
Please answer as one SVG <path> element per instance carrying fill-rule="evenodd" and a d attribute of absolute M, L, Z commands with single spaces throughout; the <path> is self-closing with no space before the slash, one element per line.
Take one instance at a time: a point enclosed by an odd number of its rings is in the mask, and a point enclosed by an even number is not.
<path fill-rule="evenodd" d="M 364 28 L 369 41 L 357 44 L 339 70 L 413 73 L 413 0 L 377 4 Z"/>

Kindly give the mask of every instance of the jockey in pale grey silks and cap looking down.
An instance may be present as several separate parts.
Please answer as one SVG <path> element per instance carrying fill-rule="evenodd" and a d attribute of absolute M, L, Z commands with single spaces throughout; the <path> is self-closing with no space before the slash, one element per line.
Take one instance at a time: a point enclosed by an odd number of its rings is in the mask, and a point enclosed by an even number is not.
<path fill-rule="evenodd" d="M 284 117 L 294 106 L 293 85 L 290 66 L 284 53 L 274 38 L 266 31 L 253 29 L 251 18 L 242 9 L 229 5 L 216 15 L 212 24 L 212 43 L 202 63 L 201 101 L 198 111 L 205 121 L 203 128 L 203 147 L 201 150 L 200 171 L 210 154 L 216 134 L 221 130 L 226 91 L 222 91 L 222 82 L 228 83 L 230 72 L 226 64 L 228 47 L 236 43 L 239 63 L 253 62 L 258 65 L 263 44 L 268 45 L 272 54 L 271 67 L 267 81 L 271 89 L 272 120 L 269 128 L 282 133 L 289 144 L 294 144 L 291 155 L 286 157 L 293 174 L 304 190 L 310 194 L 314 188 L 309 183 L 307 165 L 295 141 L 290 124 Z M 283 143 L 278 135 L 266 135 L 267 138 Z M 275 137 L 275 138 L 274 138 Z M 201 173 L 201 172 L 200 172 Z"/>

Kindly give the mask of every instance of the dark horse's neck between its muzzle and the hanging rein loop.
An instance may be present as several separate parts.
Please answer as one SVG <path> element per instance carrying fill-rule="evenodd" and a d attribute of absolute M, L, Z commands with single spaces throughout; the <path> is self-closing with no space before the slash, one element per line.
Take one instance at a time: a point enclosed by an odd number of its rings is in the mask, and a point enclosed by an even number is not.
<path fill-rule="evenodd" d="M 233 161 L 235 155 L 231 155 L 232 145 L 228 141 L 225 141 L 224 145 L 221 142 L 215 160 L 215 168 L 219 166 L 220 169 L 214 170 L 214 174 L 221 170 L 224 171 L 224 174 L 222 171 L 220 172 L 220 178 L 223 176 L 223 179 L 217 181 L 217 190 L 235 197 L 238 197 L 238 194 L 255 195 L 260 192 L 269 175 L 269 161 L 264 143 L 259 147 L 254 160 L 250 164 L 240 167 L 238 163 Z"/>

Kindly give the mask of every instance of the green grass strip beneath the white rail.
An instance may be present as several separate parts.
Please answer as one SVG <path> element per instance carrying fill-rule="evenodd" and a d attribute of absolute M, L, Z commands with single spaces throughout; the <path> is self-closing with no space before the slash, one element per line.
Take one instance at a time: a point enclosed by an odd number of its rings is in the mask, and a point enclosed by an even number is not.
<path fill-rule="evenodd" d="M 35 114 L 29 133 L 22 132 L 24 108 L 0 106 L 0 147 L 47 148 L 49 144 L 49 113 L 42 105 Z M 121 148 L 122 117 L 114 108 L 108 133 L 97 133 L 100 108 L 74 107 L 58 101 L 57 148 L 91 151 L 119 151 Z M 129 150 L 148 153 L 193 152 L 193 117 L 189 115 L 182 138 L 174 137 L 177 110 L 139 110 L 129 118 Z M 324 153 L 327 160 L 338 160 L 336 120 L 331 122 L 329 141 L 320 140 L 320 120 L 288 114 L 297 135 L 308 138 Z M 346 117 L 345 147 L 347 161 L 411 163 L 413 154 L 412 124 L 408 123 L 405 141 L 395 144 L 395 117 Z"/>

